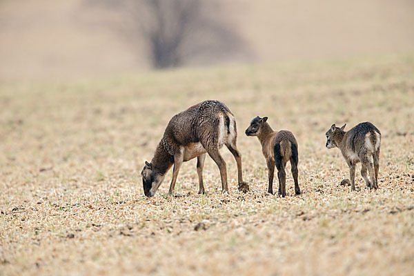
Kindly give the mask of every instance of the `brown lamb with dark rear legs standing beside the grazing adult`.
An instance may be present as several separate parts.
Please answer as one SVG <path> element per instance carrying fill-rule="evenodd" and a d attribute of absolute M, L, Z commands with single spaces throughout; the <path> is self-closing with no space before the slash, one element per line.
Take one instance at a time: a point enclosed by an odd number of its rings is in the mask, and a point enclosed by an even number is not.
<path fill-rule="evenodd" d="M 273 175 L 275 166 L 279 178 L 279 195 L 286 196 L 286 172 L 285 167 L 288 161 L 292 167 L 293 180 L 295 181 L 295 194 L 300 195 L 299 183 L 297 180 L 299 155 L 297 152 L 297 141 L 292 132 L 288 130 L 273 131 L 266 122 L 268 117 L 255 117 L 250 126 L 246 129 L 247 136 L 257 136 L 262 144 L 262 152 L 268 166 L 268 193 L 273 194 Z"/>

